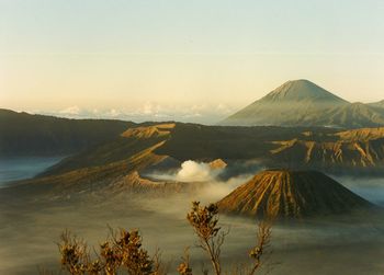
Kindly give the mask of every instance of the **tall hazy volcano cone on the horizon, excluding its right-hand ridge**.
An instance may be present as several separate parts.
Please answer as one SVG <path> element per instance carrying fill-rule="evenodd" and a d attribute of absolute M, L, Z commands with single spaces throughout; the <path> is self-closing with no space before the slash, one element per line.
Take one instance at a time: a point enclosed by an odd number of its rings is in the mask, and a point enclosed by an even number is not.
<path fill-rule="evenodd" d="M 287 81 L 262 99 L 226 118 L 223 125 L 297 126 L 315 119 L 314 113 L 348 104 L 308 80 Z"/>

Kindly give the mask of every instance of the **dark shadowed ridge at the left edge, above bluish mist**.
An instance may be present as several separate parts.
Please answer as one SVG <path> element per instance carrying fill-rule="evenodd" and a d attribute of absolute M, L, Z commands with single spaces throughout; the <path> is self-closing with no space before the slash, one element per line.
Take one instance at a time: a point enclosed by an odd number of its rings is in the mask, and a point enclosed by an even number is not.
<path fill-rule="evenodd" d="M 132 122 L 68 119 L 0 108 L 0 154 L 15 157 L 77 153 L 113 140 L 135 125 Z"/>

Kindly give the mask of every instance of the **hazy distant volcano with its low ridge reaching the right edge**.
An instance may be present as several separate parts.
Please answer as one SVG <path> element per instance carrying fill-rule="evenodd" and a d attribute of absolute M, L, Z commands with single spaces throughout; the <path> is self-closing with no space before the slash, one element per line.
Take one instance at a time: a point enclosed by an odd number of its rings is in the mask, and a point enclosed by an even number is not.
<path fill-rule="evenodd" d="M 370 104 L 350 103 L 308 80 L 294 80 L 287 81 L 219 124 L 377 127 L 384 125 L 384 101 Z"/>

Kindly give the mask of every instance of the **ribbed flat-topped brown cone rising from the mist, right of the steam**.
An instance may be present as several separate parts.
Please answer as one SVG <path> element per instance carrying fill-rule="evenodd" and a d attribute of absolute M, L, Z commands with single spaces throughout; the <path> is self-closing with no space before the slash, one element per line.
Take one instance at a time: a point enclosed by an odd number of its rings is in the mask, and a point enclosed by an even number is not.
<path fill-rule="evenodd" d="M 371 204 L 316 171 L 268 170 L 218 202 L 223 213 L 269 217 L 343 214 Z"/>

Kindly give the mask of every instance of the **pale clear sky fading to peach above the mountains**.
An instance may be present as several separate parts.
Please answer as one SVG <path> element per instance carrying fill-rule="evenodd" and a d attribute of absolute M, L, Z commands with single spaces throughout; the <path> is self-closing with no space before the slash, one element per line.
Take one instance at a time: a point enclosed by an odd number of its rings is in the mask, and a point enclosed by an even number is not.
<path fill-rule="evenodd" d="M 384 99 L 384 1 L 0 0 L 0 107 L 215 123 L 287 80 Z"/>

